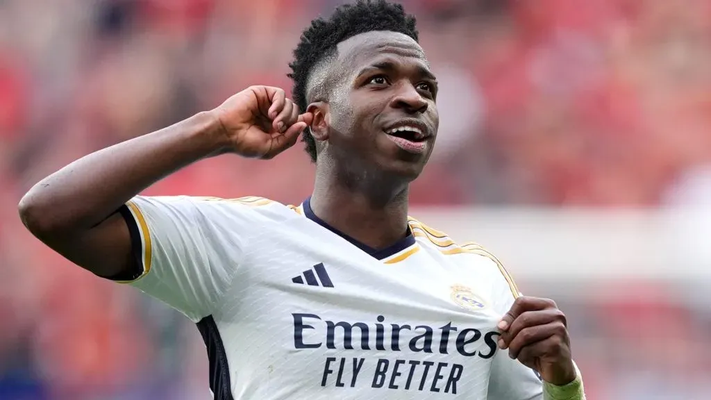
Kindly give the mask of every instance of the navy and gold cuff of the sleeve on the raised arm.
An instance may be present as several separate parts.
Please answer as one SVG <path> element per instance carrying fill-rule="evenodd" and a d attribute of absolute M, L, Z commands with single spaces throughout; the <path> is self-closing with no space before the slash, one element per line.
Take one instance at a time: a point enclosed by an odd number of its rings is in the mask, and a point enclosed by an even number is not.
<path fill-rule="evenodd" d="M 107 277 L 117 283 L 133 283 L 151 270 L 151 236 L 144 215 L 134 202 L 129 201 L 118 210 L 129 228 L 131 236 L 132 270 Z"/>

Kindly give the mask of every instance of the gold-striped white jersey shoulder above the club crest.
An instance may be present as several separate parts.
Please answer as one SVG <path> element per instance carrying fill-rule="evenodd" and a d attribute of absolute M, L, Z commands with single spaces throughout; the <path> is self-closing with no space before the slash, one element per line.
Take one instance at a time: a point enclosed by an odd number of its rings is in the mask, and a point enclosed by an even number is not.
<path fill-rule="evenodd" d="M 443 256 L 461 258 L 462 263 L 471 265 L 473 268 L 485 268 L 493 275 L 503 278 L 515 298 L 520 296 L 518 287 L 501 260 L 479 243 L 473 241 L 458 243 L 450 238 L 447 233 L 427 226 L 422 221 L 411 216 L 408 217 L 408 223 L 420 246 L 439 251 Z"/>

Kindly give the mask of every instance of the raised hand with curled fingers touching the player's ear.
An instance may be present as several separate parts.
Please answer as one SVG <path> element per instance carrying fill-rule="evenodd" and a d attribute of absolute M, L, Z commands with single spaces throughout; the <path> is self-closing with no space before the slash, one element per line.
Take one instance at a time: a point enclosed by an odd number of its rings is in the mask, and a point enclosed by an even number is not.
<path fill-rule="evenodd" d="M 284 90 L 270 86 L 250 86 L 212 112 L 232 144 L 230 151 L 261 159 L 292 147 L 313 120 L 308 112 L 299 114 Z"/>

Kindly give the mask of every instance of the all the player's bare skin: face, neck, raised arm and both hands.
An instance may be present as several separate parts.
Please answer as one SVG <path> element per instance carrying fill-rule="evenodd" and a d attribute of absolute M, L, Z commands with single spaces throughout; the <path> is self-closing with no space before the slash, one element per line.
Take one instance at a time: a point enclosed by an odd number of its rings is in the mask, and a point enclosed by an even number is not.
<path fill-rule="evenodd" d="M 407 188 L 434 147 L 437 83 L 422 48 L 400 33 L 370 32 L 338 45 L 328 98 L 303 114 L 284 90 L 252 86 L 222 105 L 163 130 L 89 154 L 33 186 L 18 206 L 25 226 L 47 246 L 100 276 L 132 270 L 122 204 L 177 169 L 234 153 L 271 159 L 306 126 L 318 144 L 314 213 L 373 248 L 407 233 Z M 421 154 L 406 152 L 384 129 L 417 120 L 431 135 Z M 575 378 L 565 315 L 551 300 L 519 298 L 503 317 L 501 348 L 551 384 Z"/>

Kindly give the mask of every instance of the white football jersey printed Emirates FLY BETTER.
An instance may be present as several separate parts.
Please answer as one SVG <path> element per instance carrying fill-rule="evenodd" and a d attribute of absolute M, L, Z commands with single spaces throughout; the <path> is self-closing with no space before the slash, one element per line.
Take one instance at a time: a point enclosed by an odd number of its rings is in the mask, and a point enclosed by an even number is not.
<path fill-rule="evenodd" d="M 137 196 L 130 285 L 196 322 L 214 399 L 542 399 L 498 349 L 518 290 L 476 244 L 410 219 L 385 250 L 309 201 Z"/>

